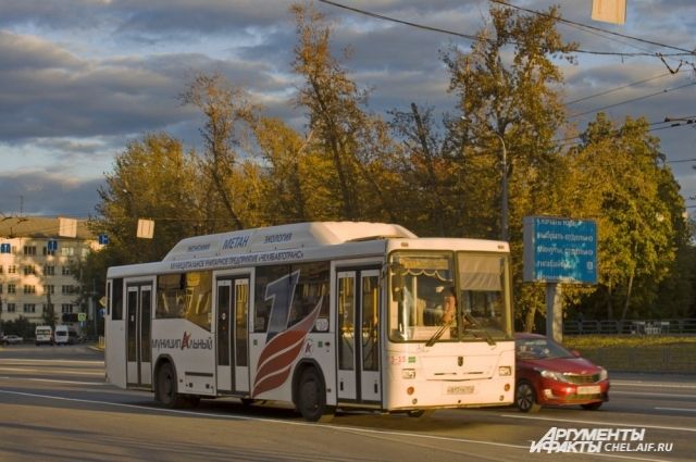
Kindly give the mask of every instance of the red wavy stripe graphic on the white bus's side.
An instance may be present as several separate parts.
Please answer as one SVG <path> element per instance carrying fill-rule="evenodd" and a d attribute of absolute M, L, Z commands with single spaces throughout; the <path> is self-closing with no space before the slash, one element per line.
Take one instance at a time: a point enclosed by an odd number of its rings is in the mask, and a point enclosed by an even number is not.
<path fill-rule="evenodd" d="M 314 326 L 322 300 L 323 297 L 320 298 L 314 310 L 302 321 L 276 335 L 263 347 L 257 365 L 251 397 L 257 397 L 285 383 L 290 375 L 290 365 L 300 354 L 307 335 Z"/>

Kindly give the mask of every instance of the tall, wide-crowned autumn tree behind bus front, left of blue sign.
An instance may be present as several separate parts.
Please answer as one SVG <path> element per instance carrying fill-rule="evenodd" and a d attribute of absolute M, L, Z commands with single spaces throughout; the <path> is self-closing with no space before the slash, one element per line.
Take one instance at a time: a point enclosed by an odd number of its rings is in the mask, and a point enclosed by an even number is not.
<path fill-rule="evenodd" d="M 465 182 L 457 200 L 467 210 L 461 214 L 467 234 L 501 237 L 506 177 L 508 236 L 515 296 L 522 307 L 517 315 L 524 316 L 525 328 L 532 329 L 544 297 L 539 287 L 521 282 L 522 217 L 560 212 L 567 167 L 555 137 L 566 118 L 558 92 L 562 75 L 551 57 L 572 61 L 575 45 L 564 43 L 556 30 L 556 8 L 532 16 L 492 8 L 490 16 L 490 27 L 478 33 L 470 52 L 452 47 L 444 57 L 459 112 L 459 120 L 447 123 L 447 138 L 453 170 Z M 513 52 L 508 57 L 510 47 Z"/>

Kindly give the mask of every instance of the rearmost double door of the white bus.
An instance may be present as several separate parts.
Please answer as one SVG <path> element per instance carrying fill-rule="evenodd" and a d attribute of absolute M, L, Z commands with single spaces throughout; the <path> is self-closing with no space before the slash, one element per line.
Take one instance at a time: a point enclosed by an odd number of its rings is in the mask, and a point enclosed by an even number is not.
<path fill-rule="evenodd" d="M 145 387 L 152 385 L 152 286 L 134 284 L 126 294 L 126 382 Z"/>

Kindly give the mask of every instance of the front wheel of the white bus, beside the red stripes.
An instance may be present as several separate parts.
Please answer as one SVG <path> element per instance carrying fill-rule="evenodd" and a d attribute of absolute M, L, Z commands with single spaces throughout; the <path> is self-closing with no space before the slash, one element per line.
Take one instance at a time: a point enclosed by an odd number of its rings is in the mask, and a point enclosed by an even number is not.
<path fill-rule="evenodd" d="M 293 376 L 295 409 L 309 422 L 328 422 L 335 408 L 326 404 L 326 379 L 315 361 L 303 361 Z"/>

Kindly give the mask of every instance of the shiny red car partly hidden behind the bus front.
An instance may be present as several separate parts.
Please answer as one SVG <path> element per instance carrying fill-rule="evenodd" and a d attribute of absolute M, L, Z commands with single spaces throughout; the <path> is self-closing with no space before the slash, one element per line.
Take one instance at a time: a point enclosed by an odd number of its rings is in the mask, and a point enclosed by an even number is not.
<path fill-rule="evenodd" d="M 537 334 L 515 334 L 514 402 L 522 412 L 546 404 L 596 410 L 609 400 L 607 370 Z"/>

